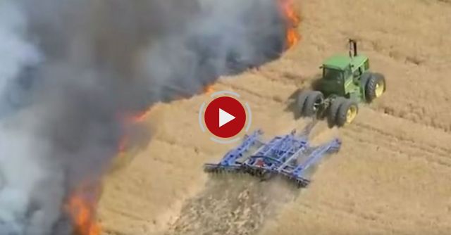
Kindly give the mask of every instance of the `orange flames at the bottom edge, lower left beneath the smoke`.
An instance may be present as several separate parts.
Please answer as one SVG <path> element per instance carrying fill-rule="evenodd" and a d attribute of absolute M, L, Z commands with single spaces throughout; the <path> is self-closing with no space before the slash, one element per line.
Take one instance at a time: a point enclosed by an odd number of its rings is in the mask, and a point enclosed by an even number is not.
<path fill-rule="evenodd" d="M 97 194 L 98 190 L 94 192 Z M 100 235 L 101 227 L 95 218 L 96 205 L 86 198 L 87 193 L 92 193 L 92 190 L 87 190 L 86 187 L 77 189 L 70 196 L 66 210 L 73 222 L 75 234 Z"/>

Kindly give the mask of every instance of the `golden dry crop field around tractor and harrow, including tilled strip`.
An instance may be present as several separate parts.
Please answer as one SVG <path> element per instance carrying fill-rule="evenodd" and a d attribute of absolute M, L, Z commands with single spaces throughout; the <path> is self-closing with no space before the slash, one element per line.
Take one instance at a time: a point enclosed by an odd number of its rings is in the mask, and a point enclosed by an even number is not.
<path fill-rule="evenodd" d="M 233 147 L 199 129 L 207 94 L 159 104 L 146 124 L 149 146 L 106 179 L 99 216 L 104 234 L 450 234 L 451 5 L 427 0 L 298 1 L 302 42 L 278 61 L 235 77 L 252 108 L 252 129 L 266 137 L 302 128 L 287 108 L 348 37 L 382 72 L 385 95 L 359 110 L 339 136 L 342 149 L 323 161 L 308 189 L 249 177 L 209 177 L 202 164 Z M 280 183 L 280 184 L 279 184 Z"/>

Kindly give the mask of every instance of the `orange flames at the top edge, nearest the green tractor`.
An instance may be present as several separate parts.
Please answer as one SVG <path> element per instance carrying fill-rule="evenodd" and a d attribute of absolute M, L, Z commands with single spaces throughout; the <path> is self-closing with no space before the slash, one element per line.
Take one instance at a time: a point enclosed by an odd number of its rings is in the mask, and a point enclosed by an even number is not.
<path fill-rule="evenodd" d="M 278 0 L 278 3 L 280 11 L 282 11 L 287 21 L 286 43 L 287 49 L 290 49 L 300 41 L 297 27 L 299 26 L 299 23 L 301 23 L 301 18 L 295 9 L 293 0 Z"/>

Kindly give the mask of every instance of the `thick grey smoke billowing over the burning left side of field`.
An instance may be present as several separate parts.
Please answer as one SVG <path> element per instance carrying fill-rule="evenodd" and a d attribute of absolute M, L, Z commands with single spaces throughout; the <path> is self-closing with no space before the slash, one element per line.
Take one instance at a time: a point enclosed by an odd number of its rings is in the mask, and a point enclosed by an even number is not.
<path fill-rule="evenodd" d="M 276 0 L 0 0 L 0 235 L 60 229 L 121 115 L 276 58 Z M 151 170 L 151 169 L 149 169 Z"/>

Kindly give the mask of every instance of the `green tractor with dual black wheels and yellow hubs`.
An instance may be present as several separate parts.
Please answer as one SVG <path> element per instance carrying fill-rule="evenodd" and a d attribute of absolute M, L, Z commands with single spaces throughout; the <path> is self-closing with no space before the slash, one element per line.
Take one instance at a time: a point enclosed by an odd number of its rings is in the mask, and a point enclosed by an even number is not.
<path fill-rule="evenodd" d="M 315 90 L 302 91 L 297 107 L 302 117 L 324 118 L 331 126 L 350 124 L 359 103 L 371 103 L 385 92 L 385 77 L 370 72 L 369 59 L 357 55 L 357 42 L 350 39 L 350 54 L 332 56 L 323 62 Z"/>

